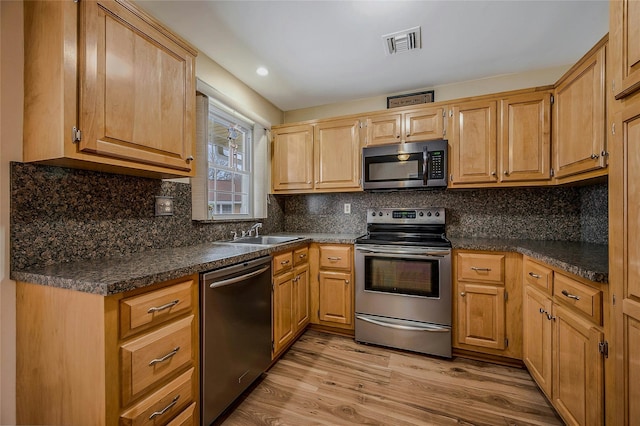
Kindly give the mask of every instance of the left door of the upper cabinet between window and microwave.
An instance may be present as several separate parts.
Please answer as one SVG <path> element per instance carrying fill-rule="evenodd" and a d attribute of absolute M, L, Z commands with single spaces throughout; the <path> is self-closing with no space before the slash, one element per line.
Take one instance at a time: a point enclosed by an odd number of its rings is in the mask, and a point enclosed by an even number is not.
<path fill-rule="evenodd" d="M 313 126 L 274 130 L 272 155 L 274 192 L 313 189 Z"/>

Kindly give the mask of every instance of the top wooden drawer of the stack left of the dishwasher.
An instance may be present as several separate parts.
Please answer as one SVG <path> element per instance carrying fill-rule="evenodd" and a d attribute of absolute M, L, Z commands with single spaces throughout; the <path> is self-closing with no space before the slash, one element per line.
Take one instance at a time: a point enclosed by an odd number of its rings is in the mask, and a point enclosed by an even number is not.
<path fill-rule="evenodd" d="M 163 323 L 193 307 L 193 280 L 120 301 L 120 337 Z"/>

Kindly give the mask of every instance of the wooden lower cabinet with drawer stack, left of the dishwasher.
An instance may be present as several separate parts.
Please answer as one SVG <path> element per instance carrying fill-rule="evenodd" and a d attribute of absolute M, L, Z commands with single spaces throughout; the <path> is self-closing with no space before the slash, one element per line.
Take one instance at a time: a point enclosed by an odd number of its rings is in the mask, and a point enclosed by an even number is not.
<path fill-rule="evenodd" d="M 19 424 L 199 423 L 197 276 L 112 296 L 18 282 L 16 296 Z"/>

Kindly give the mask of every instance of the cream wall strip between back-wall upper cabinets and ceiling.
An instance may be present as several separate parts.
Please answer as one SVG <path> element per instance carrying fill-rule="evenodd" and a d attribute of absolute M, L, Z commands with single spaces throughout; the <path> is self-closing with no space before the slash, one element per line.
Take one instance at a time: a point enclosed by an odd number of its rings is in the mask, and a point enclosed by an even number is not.
<path fill-rule="evenodd" d="M 528 71 L 519 74 L 505 74 L 480 80 L 465 81 L 430 88 L 416 88 L 415 90 L 411 90 L 409 93 L 434 90 L 435 101 L 440 102 L 451 99 L 466 98 L 469 96 L 505 92 L 508 90 L 526 89 L 528 87 L 547 86 L 554 84 L 570 67 L 571 65 L 565 65 L 561 67 Z M 318 118 L 329 118 L 384 110 L 387 108 L 387 96 L 399 94 L 402 93 L 390 93 L 384 96 L 375 96 L 349 102 L 286 111 L 284 113 L 284 122 L 295 123 L 298 121 Z"/>

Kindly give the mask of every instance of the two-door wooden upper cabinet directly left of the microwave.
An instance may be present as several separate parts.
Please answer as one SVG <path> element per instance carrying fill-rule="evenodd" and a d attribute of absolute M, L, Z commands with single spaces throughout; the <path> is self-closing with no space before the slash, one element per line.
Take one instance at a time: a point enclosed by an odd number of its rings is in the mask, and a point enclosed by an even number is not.
<path fill-rule="evenodd" d="M 360 120 L 274 126 L 274 194 L 361 191 Z"/>

